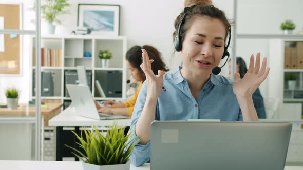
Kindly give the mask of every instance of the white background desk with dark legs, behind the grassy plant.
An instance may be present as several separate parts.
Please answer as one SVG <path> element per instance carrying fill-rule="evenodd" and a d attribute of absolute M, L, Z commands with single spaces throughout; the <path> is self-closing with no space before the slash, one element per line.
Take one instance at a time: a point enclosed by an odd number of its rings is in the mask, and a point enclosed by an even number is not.
<path fill-rule="evenodd" d="M 74 132 L 80 134 L 79 127 L 82 126 L 112 126 L 115 120 L 96 120 L 90 119 L 82 116 L 78 116 L 75 111 L 71 109 L 65 109 L 59 115 L 56 115 L 48 121 L 49 126 L 56 127 L 56 161 L 62 161 L 63 157 L 63 127 L 71 126 L 75 127 Z M 131 119 L 119 119 L 116 120 L 118 126 L 130 126 Z M 74 138 L 74 141 L 78 139 Z M 79 148 L 77 144 L 74 145 L 75 148 Z M 75 157 L 75 160 L 79 160 Z"/>

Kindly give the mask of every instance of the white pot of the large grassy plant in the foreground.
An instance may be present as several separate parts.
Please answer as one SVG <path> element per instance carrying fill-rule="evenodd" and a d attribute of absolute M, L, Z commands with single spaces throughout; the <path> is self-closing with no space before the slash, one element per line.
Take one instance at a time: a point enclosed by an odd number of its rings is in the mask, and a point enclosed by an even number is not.
<path fill-rule="evenodd" d="M 102 166 L 82 162 L 82 166 L 84 170 L 129 170 L 130 160 L 128 160 L 125 164 Z"/>

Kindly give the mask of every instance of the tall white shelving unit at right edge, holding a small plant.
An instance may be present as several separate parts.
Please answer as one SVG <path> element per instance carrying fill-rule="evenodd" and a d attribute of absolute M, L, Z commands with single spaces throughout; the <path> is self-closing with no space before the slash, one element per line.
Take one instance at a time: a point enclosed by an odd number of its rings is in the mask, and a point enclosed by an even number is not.
<path fill-rule="evenodd" d="M 303 69 L 284 69 L 285 68 L 285 47 L 289 42 L 302 42 L 303 36 L 300 38 L 284 38 L 269 40 L 269 67 L 271 72 L 275 73 L 269 76 L 269 95 L 273 98 L 279 98 L 283 104 L 279 105 L 279 118 L 288 118 L 294 120 L 302 120 L 303 103 Z M 296 86 L 289 89 L 285 82 L 287 74 L 296 74 Z M 302 94 L 302 95 L 300 95 Z M 300 97 L 301 96 L 301 97 Z M 287 106 L 288 105 L 288 106 Z M 287 155 L 287 162 L 302 163 L 303 160 L 303 130 L 302 123 L 293 124 L 290 145 Z"/>

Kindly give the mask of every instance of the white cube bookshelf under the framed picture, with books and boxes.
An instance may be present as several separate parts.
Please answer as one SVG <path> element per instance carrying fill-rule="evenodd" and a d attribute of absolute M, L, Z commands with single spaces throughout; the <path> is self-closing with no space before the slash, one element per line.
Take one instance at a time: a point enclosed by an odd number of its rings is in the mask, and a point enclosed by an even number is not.
<path fill-rule="evenodd" d="M 34 45 L 36 38 L 31 37 L 32 45 L 30 56 L 35 56 Z M 121 100 L 126 97 L 126 63 L 127 38 L 125 36 L 92 36 L 92 35 L 42 35 L 42 83 L 47 81 L 49 75 L 53 79 L 53 87 L 42 84 L 42 99 L 60 99 L 64 106 L 70 103 L 70 97 L 66 91 L 66 83 L 78 83 L 77 66 L 85 66 L 88 75 L 88 84 L 91 94 L 96 100 Z M 109 61 L 109 67 L 103 68 L 98 58 L 99 50 L 108 49 L 113 58 Z M 90 57 L 84 53 L 89 52 Z M 44 54 L 44 55 L 43 55 Z M 30 78 L 33 79 L 31 96 L 34 96 L 35 63 L 31 57 Z M 48 74 L 49 73 L 49 74 Z M 44 74 L 46 78 L 44 79 Z M 95 81 L 98 80 L 106 97 L 100 96 Z M 118 82 L 118 83 L 117 83 Z M 48 89 L 51 93 L 47 94 Z M 45 91 L 45 93 L 44 93 Z M 46 95 L 46 96 L 45 96 Z M 35 99 L 32 97 L 32 99 Z"/>

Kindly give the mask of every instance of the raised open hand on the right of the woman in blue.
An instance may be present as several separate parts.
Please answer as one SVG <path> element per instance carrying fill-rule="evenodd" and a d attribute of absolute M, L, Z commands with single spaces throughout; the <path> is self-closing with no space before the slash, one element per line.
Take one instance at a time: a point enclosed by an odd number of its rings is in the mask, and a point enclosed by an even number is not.
<path fill-rule="evenodd" d="M 256 65 L 254 66 L 254 55 L 250 58 L 250 66 L 247 73 L 242 79 L 240 74 L 235 74 L 233 91 L 237 98 L 250 99 L 260 84 L 267 78 L 270 68 L 266 69 L 267 58 L 263 58 L 262 67 L 260 69 L 260 53 L 256 57 Z"/>

